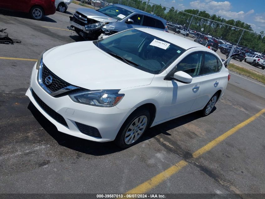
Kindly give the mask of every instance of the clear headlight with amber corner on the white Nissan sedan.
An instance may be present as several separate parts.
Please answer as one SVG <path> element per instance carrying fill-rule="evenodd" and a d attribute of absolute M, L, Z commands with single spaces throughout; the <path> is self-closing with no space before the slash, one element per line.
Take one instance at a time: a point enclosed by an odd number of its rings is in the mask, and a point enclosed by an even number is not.
<path fill-rule="evenodd" d="M 120 90 L 80 91 L 69 95 L 74 102 L 99 107 L 115 106 L 124 97 Z"/>

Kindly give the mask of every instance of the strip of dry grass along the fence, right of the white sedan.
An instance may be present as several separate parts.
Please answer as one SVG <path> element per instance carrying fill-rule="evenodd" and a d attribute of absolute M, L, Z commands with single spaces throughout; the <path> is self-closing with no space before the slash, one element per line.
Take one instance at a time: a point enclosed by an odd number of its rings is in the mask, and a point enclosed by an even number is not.
<path fill-rule="evenodd" d="M 245 75 L 247 77 L 250 77 L 254 80 L 260 81 L 263 84 L 265 84 L 265 75 L 262 75 L 260 73 L 253 71 L 253 70 L 238 66 L 236 64 L 229 64 L 227 68 L 231 71 L 238 73 L 238 74 Z"/>

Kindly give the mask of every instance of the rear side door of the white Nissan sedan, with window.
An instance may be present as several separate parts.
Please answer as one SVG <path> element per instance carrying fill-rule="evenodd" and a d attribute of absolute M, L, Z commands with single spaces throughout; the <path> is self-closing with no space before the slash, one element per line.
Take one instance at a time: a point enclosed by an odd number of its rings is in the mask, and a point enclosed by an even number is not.
<path fill-rule="evenodd" d="M 204 53 L 204 64 L 200 74 L 193 79 L 201 82 L 199 94 L 191 107 L 191 111 L 203 108 L 211 97 L 219 90 L 220 80 L 223 73 L 220 73 L 222 63 L 212 53 Z"/>

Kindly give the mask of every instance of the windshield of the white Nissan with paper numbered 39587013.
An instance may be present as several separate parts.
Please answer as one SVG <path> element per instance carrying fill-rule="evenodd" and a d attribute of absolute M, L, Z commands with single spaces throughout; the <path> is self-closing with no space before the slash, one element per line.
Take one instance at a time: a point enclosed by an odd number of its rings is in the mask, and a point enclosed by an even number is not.
<path fill-rule="evenodd" d="M 136 29 L 115 34 L 95 44 L 110 55 L 119 56 L 121 60 L 127 60 L 127 64 L 151 74 L 161 73 L 185 52 L 181 47 Z"/>

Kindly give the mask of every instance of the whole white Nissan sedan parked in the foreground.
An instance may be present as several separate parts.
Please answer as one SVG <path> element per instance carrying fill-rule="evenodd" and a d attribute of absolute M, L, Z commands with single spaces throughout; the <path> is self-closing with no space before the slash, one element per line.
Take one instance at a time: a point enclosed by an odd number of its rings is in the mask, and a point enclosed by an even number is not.
<path fill-rule="evenodd" d="M 137 28 L 42 53 L 26 95 L 59 131 L 129 147 L 148 127 L 211 113 L 229 77 L 209 48 Z"/>

